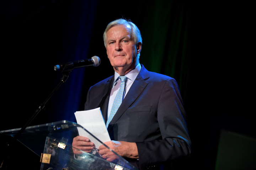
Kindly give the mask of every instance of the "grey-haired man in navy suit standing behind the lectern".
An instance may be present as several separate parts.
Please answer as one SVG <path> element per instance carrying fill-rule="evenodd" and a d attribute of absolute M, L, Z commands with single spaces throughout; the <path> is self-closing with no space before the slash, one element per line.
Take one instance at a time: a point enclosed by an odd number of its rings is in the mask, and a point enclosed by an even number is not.
<path fill-rule="evenodd" d="M 137 26 L 117 19 L 108 24 L 103 39 L 115 74 L 89 89 L 85 110 L 101 108 L 112 140 L 105 144 L 122 157 L 139 160 L 135 161 L 139 169 L 190 155 L 178 85 L 173 78 L 149 72 L 139 63 L 142 38 Z M 73 147 L 85 152 L 93 146 L 86 137 L 73 140 Z M 112 160 L 106 147 L 99 149 L 104 159 Z"/>

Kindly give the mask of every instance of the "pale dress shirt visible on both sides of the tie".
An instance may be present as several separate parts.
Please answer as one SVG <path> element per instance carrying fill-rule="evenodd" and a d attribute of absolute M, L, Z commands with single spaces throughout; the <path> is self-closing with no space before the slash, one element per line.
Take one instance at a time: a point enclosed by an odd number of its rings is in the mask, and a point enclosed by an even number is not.
<path fill-rule="evenodd" d="M 139 74 L 141 69 L 140 63 L 133 69 L 131 70 L 129 73 L 127 73 L 125 76 L 127 77 L 126 79 L 126 87 L 125 87 L 125 94 L 124 97 L 126 96 L 126 94 L 128 93 L 130 87 L 132 86 L 134 80 L 136 79 L 137 75 Z M 111 112 L 111 108 L 114 102 L 114 98 L 117 95 L 118 90 L 120 89 L 120 85 L 121 85 L 121 79 L 119 79 L 119 74 L 117 72 L 115 72 L 114 74 L 114 82 L 113 82 L 113 86 L 111 89 L 111 93 L 110 93 L 110 99 L 108 101 L 108 117 L 110 115 Z"/>

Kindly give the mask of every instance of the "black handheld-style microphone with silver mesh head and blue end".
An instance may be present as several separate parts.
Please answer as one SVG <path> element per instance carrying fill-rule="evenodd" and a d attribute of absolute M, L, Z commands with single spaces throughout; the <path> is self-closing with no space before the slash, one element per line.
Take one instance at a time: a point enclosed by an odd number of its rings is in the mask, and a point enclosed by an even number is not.
<path fill-rule="evenodd" d="M 72 71 L 74 68 L 80 68 L 80 67 L 86 67 L 86 66 L 97 67 L 98 65 L 100 65 L 100 63 L 101 63 L 100 58 L 97 56 L 93 56 L 92 58 L 85 59 L 85 60 L 78 60 L 78 61 L 56 65 L 54 66 L 54 70 L 60 71 L 60 72 L 68 72 L 68 71 Z"/>

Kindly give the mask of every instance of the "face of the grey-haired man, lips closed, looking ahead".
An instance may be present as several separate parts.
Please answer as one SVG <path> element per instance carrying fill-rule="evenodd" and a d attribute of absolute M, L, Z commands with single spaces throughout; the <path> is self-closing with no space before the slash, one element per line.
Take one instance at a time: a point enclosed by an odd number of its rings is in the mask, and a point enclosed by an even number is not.
<path fill-rule="evenodd" d="M 131 37 L 130 26 L 114 26 L 107 32 L 107 55 L 115 70 L 133 69 L 140 52 L 141 44 L 135 45 Z"/>

